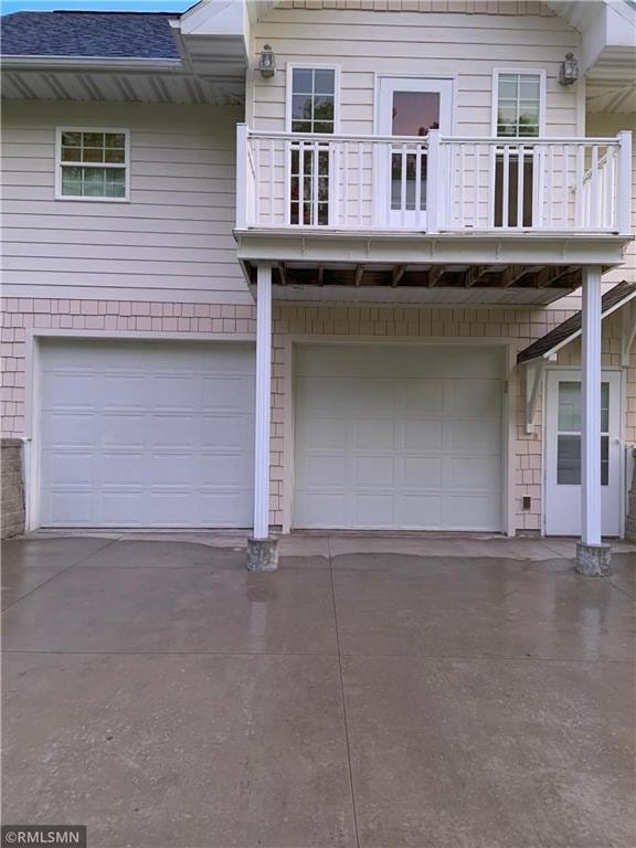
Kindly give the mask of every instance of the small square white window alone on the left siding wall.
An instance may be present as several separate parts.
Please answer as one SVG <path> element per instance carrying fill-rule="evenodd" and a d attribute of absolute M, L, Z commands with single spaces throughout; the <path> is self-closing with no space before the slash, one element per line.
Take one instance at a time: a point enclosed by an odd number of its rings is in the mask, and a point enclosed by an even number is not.
<path fill-rule="evenodd" d="M 129 149 L 126 129 L 59 127 L 55 197 L 59 200 L 128 200 Z"/>

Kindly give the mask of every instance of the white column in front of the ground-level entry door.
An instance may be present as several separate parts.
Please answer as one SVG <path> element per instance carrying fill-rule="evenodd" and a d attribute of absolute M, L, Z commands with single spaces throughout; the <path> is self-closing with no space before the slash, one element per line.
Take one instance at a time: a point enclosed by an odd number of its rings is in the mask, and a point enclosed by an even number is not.
<path fill-rule="evenodd" d="M 601 544 L 601 267 L 583 268 L 581 541 Z"/>

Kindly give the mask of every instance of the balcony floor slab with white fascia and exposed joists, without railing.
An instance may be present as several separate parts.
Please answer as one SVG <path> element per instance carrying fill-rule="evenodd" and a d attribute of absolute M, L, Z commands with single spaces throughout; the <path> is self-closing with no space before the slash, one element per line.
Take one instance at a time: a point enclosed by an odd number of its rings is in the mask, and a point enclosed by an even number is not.
<path fill-rule="evenodd" d="M 590 234 L 453 234 L 236 230 L 254 293 L 273 266 L 280 300 L 545 305 L 579 288 L 582 269 L 623 262 L 628 237 Z"/>

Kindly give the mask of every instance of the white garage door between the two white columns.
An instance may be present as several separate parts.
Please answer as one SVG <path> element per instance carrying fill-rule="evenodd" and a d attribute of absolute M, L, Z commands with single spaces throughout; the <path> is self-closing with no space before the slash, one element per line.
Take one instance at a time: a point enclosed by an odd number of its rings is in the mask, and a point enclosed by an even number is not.
<path fill-rule="evenodd" d="M 301 346 L 297 528 L 501 530 L 501 351 Z"/>

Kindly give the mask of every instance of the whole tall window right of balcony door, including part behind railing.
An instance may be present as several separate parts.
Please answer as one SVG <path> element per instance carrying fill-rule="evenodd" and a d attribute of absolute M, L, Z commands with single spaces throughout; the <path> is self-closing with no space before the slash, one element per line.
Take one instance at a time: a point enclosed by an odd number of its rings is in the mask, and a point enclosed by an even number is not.
<path fill-rule="evenodd" d="M 541 135 L 544 86 L 544 74 L 541 72 L 495 72 L 494 124 L 502 141 L 507 138 L 530 139 Z M 523 148 L 521 155 L 517 145 L 498 150 L 495 226 L 532 226 L 536 155 L 537 149 L 533 147 Z M 505 186 L 508 187 L 507 198 L 504 198 Z"/>

